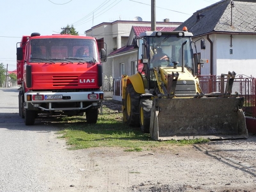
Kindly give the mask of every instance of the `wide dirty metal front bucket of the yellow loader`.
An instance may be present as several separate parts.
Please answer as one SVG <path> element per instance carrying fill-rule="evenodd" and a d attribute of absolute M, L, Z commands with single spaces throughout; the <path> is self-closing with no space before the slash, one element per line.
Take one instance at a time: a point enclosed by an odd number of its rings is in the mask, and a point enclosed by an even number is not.
<path fill-rule="evenodd" d="M 150 134 L 155 140 L 246 139 L 243 97 L 155 98 Z"/>

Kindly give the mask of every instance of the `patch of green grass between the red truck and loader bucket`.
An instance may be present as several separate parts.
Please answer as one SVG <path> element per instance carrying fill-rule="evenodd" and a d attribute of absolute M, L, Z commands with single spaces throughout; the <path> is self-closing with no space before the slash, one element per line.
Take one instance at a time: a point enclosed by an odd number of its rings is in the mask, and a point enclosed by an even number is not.
<path fill-rule="evenodd" d="M 103 105 L 102 115 L 96 124 L 86 122 L 86 117 L 63 117 L 58 120 L 63 127 L 58 138 L 65 138 L 70 150 L 90 147 L 124 147 L 126 152 L 140 152 L 153 147 L 208 142 L 207 139 L 181 141 L 155 141 L 150 134 L 142 133 L 139 127 L 130 127 L 122 122 L 122 113 Z"/>

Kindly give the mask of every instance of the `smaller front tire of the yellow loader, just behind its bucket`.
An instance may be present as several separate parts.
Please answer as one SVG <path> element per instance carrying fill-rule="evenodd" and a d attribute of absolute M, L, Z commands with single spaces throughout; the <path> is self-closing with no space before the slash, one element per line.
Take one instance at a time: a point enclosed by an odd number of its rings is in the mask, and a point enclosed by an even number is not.
<path fill-rule="evenodd" d="M 150 133 L 151 99 L 140 100 L 140 128 L 143 133 Z"/>

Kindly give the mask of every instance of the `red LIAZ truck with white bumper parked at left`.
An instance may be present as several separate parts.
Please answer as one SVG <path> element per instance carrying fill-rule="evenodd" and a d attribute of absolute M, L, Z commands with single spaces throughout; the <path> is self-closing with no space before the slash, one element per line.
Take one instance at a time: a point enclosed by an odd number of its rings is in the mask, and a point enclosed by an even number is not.
<path fill-rule="evenodd" d="M 83 115 L 96 123 L 103 100 L 105 44 L 78 35 L 23 36 L 17 43 L 19 116 L 33 125 L 38 115 Z"/>

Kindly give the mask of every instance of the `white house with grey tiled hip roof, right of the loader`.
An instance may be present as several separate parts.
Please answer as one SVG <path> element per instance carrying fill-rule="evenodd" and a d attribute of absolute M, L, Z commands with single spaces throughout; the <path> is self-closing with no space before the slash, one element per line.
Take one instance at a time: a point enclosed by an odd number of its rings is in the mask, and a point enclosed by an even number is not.
<path fill-rule="evenodd" d="M 209 59 L 201 68 L 201 75 L 234 71 L 237 75 L 256 77 L 255 18 L 255 1 L 222 0 L 198 10 L 176 30 L 186 26 L 194 34 L 194 42 L 205 39 L 205 50 L 200 50 L 200 41 L 196 42 L 201 58 Z"/>

